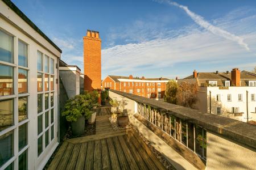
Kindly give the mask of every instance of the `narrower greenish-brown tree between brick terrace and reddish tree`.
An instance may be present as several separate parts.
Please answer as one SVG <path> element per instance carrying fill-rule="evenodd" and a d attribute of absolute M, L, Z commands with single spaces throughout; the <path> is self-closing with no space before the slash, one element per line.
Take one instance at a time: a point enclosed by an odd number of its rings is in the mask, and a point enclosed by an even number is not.
<path fill-rule="evenodd" d="M 166 84 L 166 91 L 164 92 L 164 101 L 172 104 L 177 104 L 177 89 L 178 85 L 175 80 L 170 80 Z"/>

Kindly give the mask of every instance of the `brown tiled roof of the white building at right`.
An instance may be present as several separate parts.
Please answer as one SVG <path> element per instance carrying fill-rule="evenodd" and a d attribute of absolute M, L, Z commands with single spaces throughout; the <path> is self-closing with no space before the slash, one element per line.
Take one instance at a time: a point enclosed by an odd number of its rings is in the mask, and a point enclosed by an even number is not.
<path fill-rule="evenodd" d="M 246 86 L 246 81 L 248 80 L 256 80 L 256 74 L 250 73 L 249 71 L 241 71 L 240 74 L 241 79 L 241 86 Z M 195 83 L 197 82 L 199 86 L 205 86 L 205 84 L 208 83 L 208 81 L 217 81 L 217 86 L 225 86 L 223 84 L 223 81 L 231 80 L 231 73 L 197 73 L 197 78 L 194 78 L 193 75 L 189 75 L 184 79 L 179 79 L 178 82 L 190 82 Z"/>

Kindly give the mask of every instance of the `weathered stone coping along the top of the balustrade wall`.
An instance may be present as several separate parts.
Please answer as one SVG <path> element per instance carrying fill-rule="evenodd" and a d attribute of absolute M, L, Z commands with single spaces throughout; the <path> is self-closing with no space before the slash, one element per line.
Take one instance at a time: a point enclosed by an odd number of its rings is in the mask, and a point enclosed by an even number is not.
<path fill-rule="evenodd" d="M 179 117 L 182 120 L 195 123 L 202 126 L 204 129 L 213 131 L 214 133 L 223 135 L 229 139 L 240 142 L 243 145 L 247 145 L 256 148 L 256 126 L 234 120 L 232 118 L 219 116 L 217 114 L 202 113 L 195 109 L 182 107 L 175 104 L 166 103 L 164 101 L 158 101 L 154 99 L 148 99 L 126 92 L 111 90 L 115 94 L 127 97 L 128 99 L 150 105 L 150 107 L 159 109 L 161 112 L 166 112 L 173 116 Z"/>

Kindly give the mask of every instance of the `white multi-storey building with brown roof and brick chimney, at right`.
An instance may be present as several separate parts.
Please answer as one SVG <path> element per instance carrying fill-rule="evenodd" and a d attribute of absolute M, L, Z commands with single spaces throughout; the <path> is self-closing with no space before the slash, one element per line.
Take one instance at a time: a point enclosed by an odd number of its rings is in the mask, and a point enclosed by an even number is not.
<path fill-rule="evenodd" d="M 203 113 L 220 114 L 243 122 L 256 121 L 256 75 L 233 69 L 226 73 L 197 73 L 178 82 L 199 86 L 197 108 Z"/>

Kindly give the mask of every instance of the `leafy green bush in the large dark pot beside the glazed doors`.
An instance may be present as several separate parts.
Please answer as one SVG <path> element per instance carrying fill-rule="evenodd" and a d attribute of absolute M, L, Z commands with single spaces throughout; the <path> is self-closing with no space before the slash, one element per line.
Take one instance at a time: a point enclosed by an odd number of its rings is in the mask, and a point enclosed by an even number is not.
<path fill-rule="evenodd" d="M 84 115 L 88 119 L 92 112 L 90 111 L 96 105 L 95 93 L 85 92 L 83 95 L 76 95 L 69 99 L 64 106 L 62 116 L 66 117 L 68 122 L 76 122 L 77 118 Z"/>

